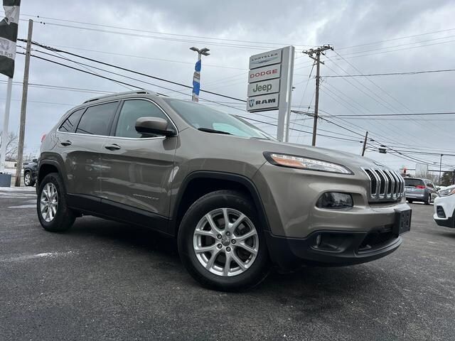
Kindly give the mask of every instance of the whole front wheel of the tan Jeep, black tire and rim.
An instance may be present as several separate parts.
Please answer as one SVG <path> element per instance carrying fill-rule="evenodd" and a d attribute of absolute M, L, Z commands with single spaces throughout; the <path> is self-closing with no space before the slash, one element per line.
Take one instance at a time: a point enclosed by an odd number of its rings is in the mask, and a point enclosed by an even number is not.
<path fill-rule="evenodd" d="M 269 273 L 255 207 L 233 190 L 208 193 L 191 205 L 178 231 L 178 252 L 191 276 L 214 290 L 253 288 Z"/>

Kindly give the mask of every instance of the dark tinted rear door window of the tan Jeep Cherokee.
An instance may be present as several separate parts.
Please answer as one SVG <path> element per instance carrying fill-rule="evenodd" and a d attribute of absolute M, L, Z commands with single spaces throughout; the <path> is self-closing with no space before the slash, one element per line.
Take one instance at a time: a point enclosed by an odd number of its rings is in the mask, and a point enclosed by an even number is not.
<path fill-rule="evenodd" d="M 109 135 L 119 102 L 88 107 L 77 126 L 77 134 Z"/>

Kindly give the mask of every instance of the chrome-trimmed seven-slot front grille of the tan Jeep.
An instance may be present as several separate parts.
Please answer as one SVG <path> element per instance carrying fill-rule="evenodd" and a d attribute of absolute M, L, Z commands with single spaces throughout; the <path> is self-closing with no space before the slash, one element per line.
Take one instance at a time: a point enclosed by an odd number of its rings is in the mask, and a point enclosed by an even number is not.
<path fill-rule="evenodd" d="M 362 168 L 370 179 L 369 202 L 397 201 L 402 198 L 405 180 L 400 173 L 380 168 Z"/>

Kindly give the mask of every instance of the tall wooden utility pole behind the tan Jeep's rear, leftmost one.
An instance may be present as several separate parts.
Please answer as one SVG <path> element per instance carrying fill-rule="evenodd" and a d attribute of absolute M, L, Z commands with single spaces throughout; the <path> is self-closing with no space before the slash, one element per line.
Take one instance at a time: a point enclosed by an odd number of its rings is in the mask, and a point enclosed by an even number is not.
<path fill-rule="evenodd" d="M 23 140 L 26 134 L 26 112 L 27 112 L 27 93 L 28 93 L 28 71 L 30 70 L 30 52 L 31 52 L 31 36 L 33 33 L 33 20 L 28 19 L 28 35 L 26 49 L 26 63 L 23 68 L 23 88 L 22 88 L 22 103 L 21 103 L 21 126 L 19 129 L 19 144 L 17 151 L 16 163 L 16 182 L 15 186 L 21 186 L 21 170 L 23 158 Z"/>

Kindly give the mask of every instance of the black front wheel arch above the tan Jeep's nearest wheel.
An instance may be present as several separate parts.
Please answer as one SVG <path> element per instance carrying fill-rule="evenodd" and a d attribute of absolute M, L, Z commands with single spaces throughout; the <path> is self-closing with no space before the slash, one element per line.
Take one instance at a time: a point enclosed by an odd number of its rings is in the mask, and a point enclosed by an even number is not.
<path fill-rule="evenodd" d="M 183 215 L 193 202 L 215 190 L 238 190 L 250 197 L 257 210 L 262 228 L 269 231 L 269 222 L 261 197 L 255 184 L 249 178 L 235 173 L 196 171 L 186 176 L 178 190 L 175 205 L 171 209 L 172 219 L 169 233 L 176 236 Z"/>

